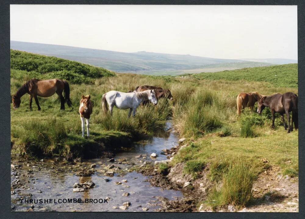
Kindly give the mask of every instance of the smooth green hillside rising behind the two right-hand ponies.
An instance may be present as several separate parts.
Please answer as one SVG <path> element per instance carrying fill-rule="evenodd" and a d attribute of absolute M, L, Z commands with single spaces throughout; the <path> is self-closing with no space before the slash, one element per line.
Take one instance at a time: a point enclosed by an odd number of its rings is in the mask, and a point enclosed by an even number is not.
<path fill-rule="evenodd" d="M 298 87 L 298 64 L 283 64 L 267 67 L 242 68 L 232 71 L 203 72 L 191 75 L 193 78 L 228 81 L 269 82 L 274 87 Z"/>

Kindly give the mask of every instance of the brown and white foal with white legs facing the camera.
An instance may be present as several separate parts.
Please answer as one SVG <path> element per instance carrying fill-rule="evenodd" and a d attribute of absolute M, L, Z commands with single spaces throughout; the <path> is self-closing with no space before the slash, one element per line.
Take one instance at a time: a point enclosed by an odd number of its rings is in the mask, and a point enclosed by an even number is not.
<path fill-rule="evenodd" d="M 90 95 L 89 96 L 81 96 L 81 101 L 79 103 L 79 109 L 78 112 L 81 115 L 81 136 L 84 137 L 85 132 L 85 125 L 84 125 L 84 119 L 86 119 L 86 126 L 87 126 L 87 136 L 89 137 L 89 119 L 90 115 L 92 113 L 92 103 L 90 101 Z"/>

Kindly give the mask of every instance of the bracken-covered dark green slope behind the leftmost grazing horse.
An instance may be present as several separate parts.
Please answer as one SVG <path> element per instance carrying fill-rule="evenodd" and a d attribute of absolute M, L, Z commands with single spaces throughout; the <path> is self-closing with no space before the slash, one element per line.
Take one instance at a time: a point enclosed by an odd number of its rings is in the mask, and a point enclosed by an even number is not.
<path fill-rule="evenodd" d="M 74 84 L 81 84 L 92 83 L 95 78 L 115 75 L 105 68 L 12 49 L 10 58 L 11 78 L 22 81 L 31 78 L 59 78 Z"/>

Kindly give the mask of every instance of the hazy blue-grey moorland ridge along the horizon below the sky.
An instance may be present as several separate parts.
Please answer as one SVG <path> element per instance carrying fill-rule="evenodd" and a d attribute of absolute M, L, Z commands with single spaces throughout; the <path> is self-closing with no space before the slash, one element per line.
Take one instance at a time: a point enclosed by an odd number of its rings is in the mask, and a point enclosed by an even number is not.
<path fill-rule="evenodd" d="M 109 50 L 96 50 L 19 41 L 11 41 L 11 49 L 79 61 L 117 72 L 132 72 L 151 75 L 177 75 L 187 71 L 201 72 L 202 69 L 213 70 L 215 68 L 219 71 L 220 69 L 226 70 L 272 65 L 271 63 L 266 62 L 245 61 L 239 59 L 217 59 L 145 51 L 124 53 Z"/>

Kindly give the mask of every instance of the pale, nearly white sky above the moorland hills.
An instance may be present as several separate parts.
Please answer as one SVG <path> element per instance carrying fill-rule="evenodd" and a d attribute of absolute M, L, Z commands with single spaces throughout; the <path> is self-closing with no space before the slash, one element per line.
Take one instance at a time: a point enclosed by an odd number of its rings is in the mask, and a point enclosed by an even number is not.
<path fill-rule="evenodd" d="M 119 52 L 297 60 L 297 6 L 11 5 L 10 39 Z"/>

